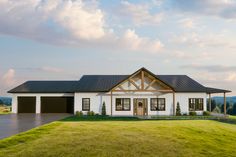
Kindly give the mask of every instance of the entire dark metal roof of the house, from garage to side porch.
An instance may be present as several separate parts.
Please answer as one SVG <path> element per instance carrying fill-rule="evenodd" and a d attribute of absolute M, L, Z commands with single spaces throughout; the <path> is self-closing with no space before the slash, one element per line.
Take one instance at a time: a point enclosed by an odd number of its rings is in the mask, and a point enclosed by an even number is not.
<path fill-rule="evenodd" d="M 228 90 L 209 88 L 186 75 L 149 74 L 172 88 L 175 92 L 224 93 Z M 136 71 L 139 72 L 140 70 Z M 135 72 L 135 73 L 136 73 Z M 135 74 L 134 73 L 134 74 Z M 74 93 L 74 92 L 108 92 L 117 84 L 132 75 L 84 75 L 79 81 L 28 81 L 8 91 L 9 93 Z"/>

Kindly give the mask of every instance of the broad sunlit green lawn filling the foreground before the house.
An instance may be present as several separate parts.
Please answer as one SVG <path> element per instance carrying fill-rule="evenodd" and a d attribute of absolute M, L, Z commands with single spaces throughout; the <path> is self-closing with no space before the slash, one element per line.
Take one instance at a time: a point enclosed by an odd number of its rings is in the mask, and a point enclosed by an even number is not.
<path fill-rule="evenodd" d="M 213 120 L 58 121 L 1 140 L 0 156 L 230 157 L 235 141 L 235 124 Z"/>

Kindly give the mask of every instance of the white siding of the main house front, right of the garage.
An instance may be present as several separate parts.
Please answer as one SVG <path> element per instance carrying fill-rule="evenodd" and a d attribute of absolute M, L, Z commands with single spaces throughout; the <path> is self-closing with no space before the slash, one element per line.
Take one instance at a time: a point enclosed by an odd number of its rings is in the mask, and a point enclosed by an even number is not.
<path fill-rule="evenodd" d="M 150 110 L 150 99 L 151 98 L 165 98 L 165 111 L 151 111 Z M 75 93 L 75 112 L 82 111 L 82 99 L 89 98 L 90 99 L 90 111 L 94 111 L 95 113 L 101 114 L 102 104 L 105 102 L 106 105 L 106 113 L 111 115 L 111 96 L 110 93 Z M 116 111 L 116 98 L 130 98 L 130 111 Z M 117 116 L 133 116 L 133 100 L 135 98 L 144 98 L 147 99 L 148 105 L 148 115 L 173 115 L 173 94 L 166 93 L 162 95 L 154 95 L 154 94 L 120 94 L 113 93 L 112 95 L 112 115 Z M 207 94 L 206 93 L 176 93 L 175 100 L 176 105 L 177 102 L 180 104 L 180 109 L 182 114 L 189 113 L 189 98 L 203 98 L 203 108 L 206 111 L 207 104 Z M 85 114 L 87 111 L 83 111 Z M 196 111 L 198 115 L 201 115 L 203 111 Z"/>

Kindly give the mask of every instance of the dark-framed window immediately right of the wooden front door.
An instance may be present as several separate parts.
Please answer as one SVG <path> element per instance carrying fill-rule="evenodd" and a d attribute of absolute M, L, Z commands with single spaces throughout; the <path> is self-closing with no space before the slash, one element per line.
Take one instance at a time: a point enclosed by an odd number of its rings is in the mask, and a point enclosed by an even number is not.
<path fill-rule="evenodd" d="M 151 111 L 165 111 L 166 102 L 165 98 L 151 98 Z"/>

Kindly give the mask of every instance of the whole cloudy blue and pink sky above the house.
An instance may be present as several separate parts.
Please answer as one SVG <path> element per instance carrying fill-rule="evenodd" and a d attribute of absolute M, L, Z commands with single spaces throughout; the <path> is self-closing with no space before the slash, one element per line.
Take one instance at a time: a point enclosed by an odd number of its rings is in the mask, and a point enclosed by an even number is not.
<path fill-rule="evenodd" d="M 2 96 L 141 67 L 236 95 L 236 0 L 0 0 L 0 59 Z"/>

